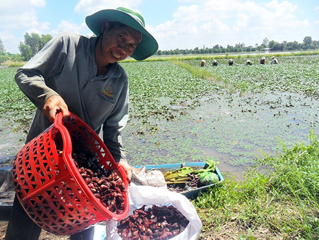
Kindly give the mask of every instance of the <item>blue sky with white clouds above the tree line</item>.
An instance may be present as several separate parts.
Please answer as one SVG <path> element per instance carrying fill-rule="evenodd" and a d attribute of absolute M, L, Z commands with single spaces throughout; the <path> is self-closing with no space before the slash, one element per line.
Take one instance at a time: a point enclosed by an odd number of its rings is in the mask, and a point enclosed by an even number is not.
<path fill-rule="evenodd" d="M 19 53 L 26 32 L 91 36 L 85 17 L 119 6 L 142 14 L 162 51 L 319 40 L 319 0 L 0 0 L 0 39 Z"/>

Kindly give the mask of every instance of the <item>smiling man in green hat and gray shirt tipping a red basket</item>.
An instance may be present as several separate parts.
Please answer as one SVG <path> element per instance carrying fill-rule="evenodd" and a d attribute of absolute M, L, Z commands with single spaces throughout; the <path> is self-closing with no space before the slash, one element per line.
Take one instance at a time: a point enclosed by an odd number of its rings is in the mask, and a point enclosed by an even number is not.
<path fill-rule="evenodd" d="M 129 83 L 118 61 L 146 59 L 157 52 L 158 43 L 145 29 L 142 15 L 129 8 L 98 11 L 85 23 L 95 36 L 61 33 L 17 70 L 17 84 L 37 107 L 26 143 L 51 126 L 57 112 L 65 119 L 70 111 L 96 133 L 103 129 L 108 150 L 130 180 L 132 167 L 121 140 L 129 118 Z M 40 232 L 16 196 L 5 240 L 38 240 Z M 70 240 L 93 236 L 91 227 Z"/>

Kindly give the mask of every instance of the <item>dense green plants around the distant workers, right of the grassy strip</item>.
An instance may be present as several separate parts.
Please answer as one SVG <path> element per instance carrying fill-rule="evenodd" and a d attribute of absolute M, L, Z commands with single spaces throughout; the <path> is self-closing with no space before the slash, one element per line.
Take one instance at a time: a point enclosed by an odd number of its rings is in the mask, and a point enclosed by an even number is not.
<path fill-rule="evenodd" d="M 240 92 L 262 92 L 265 90 L 280 92 L 302 92 L 307 95 L 318 94 L 318 54 L 278 55 L 280 64 L 269 64 L 271 58 L 266 57 L 265 65 L 259 64 L 260 56 L 240 55 L 232 57 L 235 60 L 233 66 L 228 66 L 227 58 L 220 58 L 217 67 L 212 66 L 212 61 L 207 61 L 214 79 L 223 80 L 228 83 L 231 91 Z M 252 66 L 245 66 L 246 59 L 250 59 Z M 198 65 L 196 59 L 184 60 L 189 65 Z M 302 66 L 302 67 L 301 67 Z"/>

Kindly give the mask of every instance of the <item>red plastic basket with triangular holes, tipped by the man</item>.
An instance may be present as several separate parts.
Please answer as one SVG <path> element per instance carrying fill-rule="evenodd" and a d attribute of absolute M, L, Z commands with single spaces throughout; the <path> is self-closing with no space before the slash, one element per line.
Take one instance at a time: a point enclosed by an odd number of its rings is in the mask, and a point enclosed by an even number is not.
<path fill-rule="evenodd" d="M 127 176 L 114 161 L 101 138 L 79 117 L 70 113 L 62 122 L 62 113 L 54 124 L 28 142 L 16 155 L 13 181 L 21 205 L 42 229 L 55 235 L 72 235 L 106 220 L 121 220 L 129 212 L 125 191 L 123 213 L 106 209 L 87 187 L 72 159 L 72 142 L 93 152 L 105 169 L 118 169 L 128 189 Z M 55 141 L 63 142 L 62 155 Z"/>

